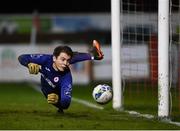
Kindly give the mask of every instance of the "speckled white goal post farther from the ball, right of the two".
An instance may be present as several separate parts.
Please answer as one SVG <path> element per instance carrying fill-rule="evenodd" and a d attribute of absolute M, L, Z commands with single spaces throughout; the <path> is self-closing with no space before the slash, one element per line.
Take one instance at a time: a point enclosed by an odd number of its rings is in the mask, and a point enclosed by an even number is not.
<path fill-rule="evenodd" d="M 158 1 L 158 117 L 169 117 L 169 0 Z"/>

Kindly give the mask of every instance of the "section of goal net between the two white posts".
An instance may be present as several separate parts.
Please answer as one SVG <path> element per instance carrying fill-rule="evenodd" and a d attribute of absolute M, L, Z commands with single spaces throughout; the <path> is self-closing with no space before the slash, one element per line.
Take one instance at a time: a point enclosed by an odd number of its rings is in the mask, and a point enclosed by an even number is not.
<path fill-rule="evenodd" d="M 124 108 L 153 115 L 157 112 L 158 73 L 158 14 L 154 6 L 123 0 L 120 17 Z"/>

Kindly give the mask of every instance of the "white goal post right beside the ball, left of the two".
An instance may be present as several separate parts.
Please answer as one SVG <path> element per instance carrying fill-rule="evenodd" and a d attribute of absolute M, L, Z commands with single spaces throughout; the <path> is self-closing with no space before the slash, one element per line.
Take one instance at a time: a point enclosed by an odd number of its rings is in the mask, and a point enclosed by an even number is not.
<path fill-rule="evenodd" d="M 111 0 L 112 86 L 113 108 L 115 110 L 123 109 L 120 45 L 120 0 Z"/>

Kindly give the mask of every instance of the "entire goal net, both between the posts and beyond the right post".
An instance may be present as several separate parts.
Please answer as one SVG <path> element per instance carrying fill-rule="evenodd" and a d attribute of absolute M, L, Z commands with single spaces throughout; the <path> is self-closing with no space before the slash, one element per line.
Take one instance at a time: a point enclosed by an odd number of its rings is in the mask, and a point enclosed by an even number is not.
<path fill-rule="evenodd" d="M 179 3 L 171 1 L 170 6 L 169 106 L 175 118 L 180 114 L 180 12 Z M 122 0 L 120 7 L 123 106 L 157 116 L 158 1 Z"/>

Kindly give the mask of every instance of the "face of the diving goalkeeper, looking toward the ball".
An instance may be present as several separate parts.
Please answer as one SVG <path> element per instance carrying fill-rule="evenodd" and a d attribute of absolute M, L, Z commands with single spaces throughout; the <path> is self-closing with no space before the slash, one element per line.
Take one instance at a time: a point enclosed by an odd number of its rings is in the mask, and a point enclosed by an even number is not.
<path fill-rule="evenodd" d="M 57 57 L 53 56 L 53 68 L 57 71 L 65 71 L 65 69 L 67 69 L 67 67 L 70 65 L 70 59 L 71 56 L 65 52 L 60 53 Z"/>

